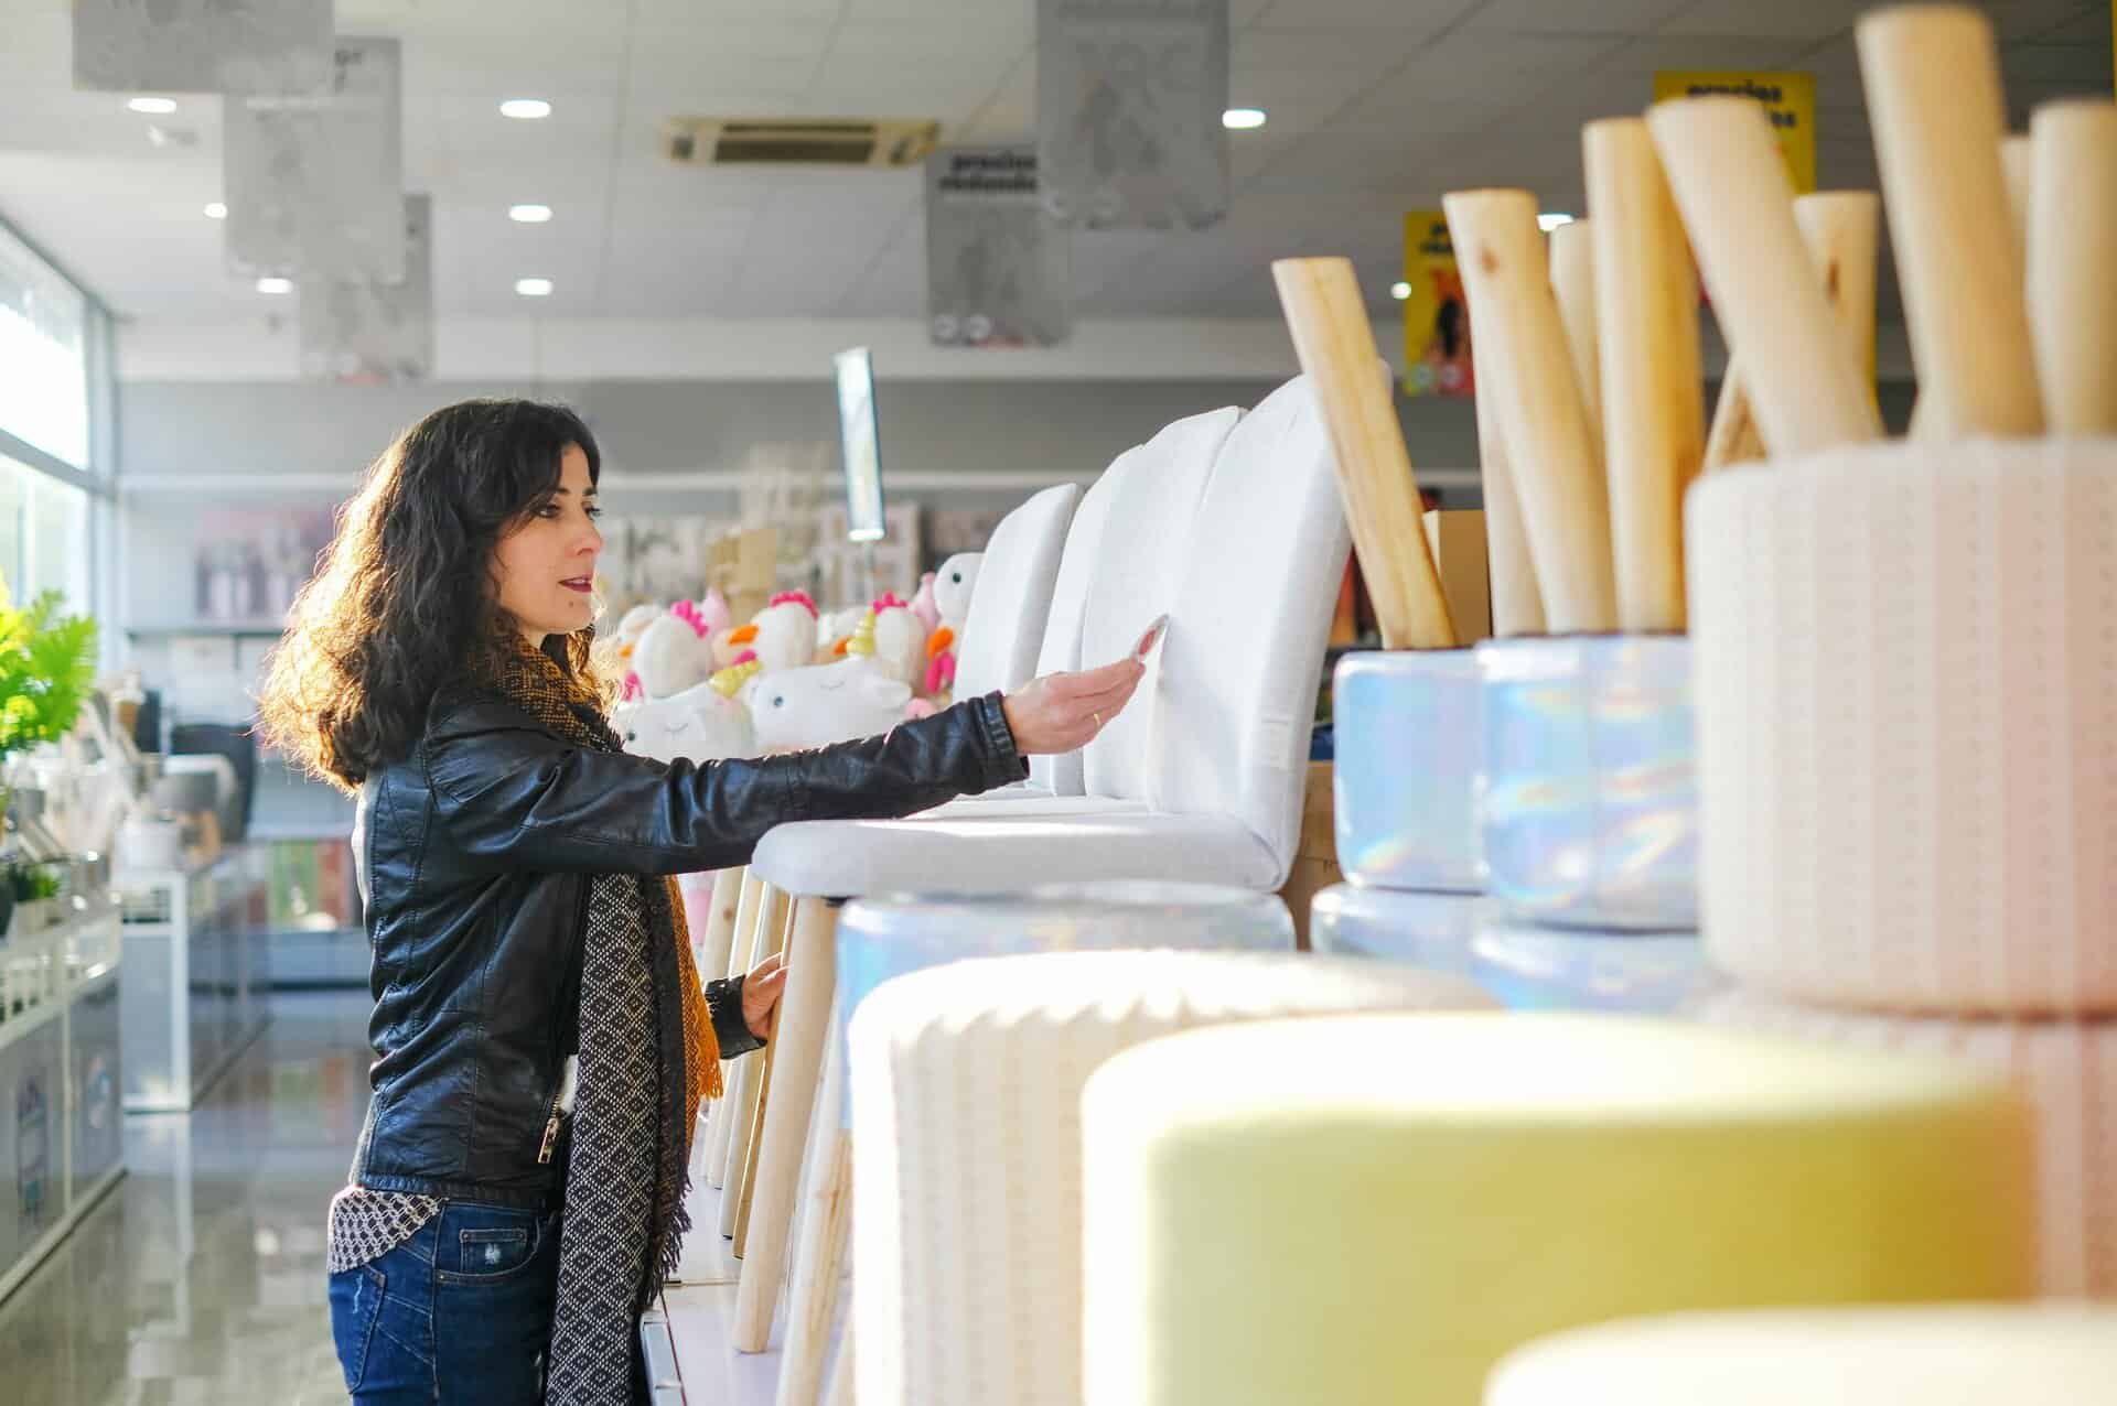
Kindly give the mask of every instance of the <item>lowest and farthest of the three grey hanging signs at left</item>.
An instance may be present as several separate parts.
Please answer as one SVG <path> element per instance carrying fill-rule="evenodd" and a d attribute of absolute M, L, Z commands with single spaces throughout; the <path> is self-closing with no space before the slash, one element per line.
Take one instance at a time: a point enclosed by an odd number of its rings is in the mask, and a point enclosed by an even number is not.
<path fill-rule="evenodd" d="M 305 275 L 301 374 L 341 385 L 426 381 L 434 372 L 432 201 L 404 197 L 404 281 Z"/>

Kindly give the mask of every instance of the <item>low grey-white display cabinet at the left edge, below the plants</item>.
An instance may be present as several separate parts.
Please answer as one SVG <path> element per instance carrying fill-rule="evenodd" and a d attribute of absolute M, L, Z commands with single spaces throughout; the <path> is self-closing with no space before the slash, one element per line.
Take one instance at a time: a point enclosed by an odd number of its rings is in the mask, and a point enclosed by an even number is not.
<path fill-rule="evenodd" d="M 0 1300 L 125 1176 L 119 930 L 99 894 L 0 941 Z"/>

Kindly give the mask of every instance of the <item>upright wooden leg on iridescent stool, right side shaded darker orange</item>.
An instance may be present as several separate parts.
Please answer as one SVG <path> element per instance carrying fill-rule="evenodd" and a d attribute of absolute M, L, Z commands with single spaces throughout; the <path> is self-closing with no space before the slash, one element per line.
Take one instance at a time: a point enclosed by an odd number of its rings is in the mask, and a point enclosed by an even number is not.
<path fill-rule="evenodd" d="M 1617 628 L 1677 632 L 1683 611 L 1683 491 L 1704 463 L 1698 271 L 1653 135 L 1636 116 L 1581 131 L 1603 364 Z"/>

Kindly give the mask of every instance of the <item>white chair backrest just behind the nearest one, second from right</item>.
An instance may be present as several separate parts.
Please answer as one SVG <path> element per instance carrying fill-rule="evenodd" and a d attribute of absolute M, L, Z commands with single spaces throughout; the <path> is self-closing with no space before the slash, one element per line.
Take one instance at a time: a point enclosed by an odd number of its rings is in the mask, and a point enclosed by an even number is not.
<path fill-rule="evenodd" d="M 1101 552 L 1082 603 L 1080 664 L 1097 668 L 1122 660 L 1156 615 L 1177 607 L 1196 537 L 1198 501 L 1213 461 L 1243 412 L 1234 406 L 1192 414 L 1162 427 L 1139 446 L 1111 488 Z M 1082 751 L 1086 795 L 1147 801 L 1154 761 L 1154 670 L 1139 696 Z"/>

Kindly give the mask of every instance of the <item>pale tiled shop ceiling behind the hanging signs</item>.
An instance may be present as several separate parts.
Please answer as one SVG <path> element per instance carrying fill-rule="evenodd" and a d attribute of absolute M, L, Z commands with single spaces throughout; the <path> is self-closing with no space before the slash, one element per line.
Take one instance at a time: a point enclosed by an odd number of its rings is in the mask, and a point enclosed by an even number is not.
<path fill-rule="evenodd" d="M 1579 125 L 1641 110 L 1660 68 L 1819 76 L 1819 180 L 1874 186 L 1850 0 L 1232 0 L 1234 207 L 1211 230 L 1073 239 L 1084 317 L 1270 317 L 1266 262 L 1351 254 L 1370 298 L 1401 214 L 1461 186 L 1579 209 Z M 2015 125 L 2111 91 L 2106 0 L 1990 0 Z M 339 0 L 404 40 L 404 178 L 434 197 L 442 317 L 921 317 L 915 171 L 720 171 L 656 150 L 669 114 L 938 116 L 1027 137 L 1033 0 Z M 220 99 L 171 118 L 72 91 L 68 0 L 0 0 L 0 216 L 119 313 L 286 311 L 227 273 Z M 553 116 L 500 116 L 546 97 Z M 195 135 L 155 146 L 150 123 Z M 512 224 L 510 203 L 555 207 Z M 548 277 L 529 304 L 517 277 Z"/>

